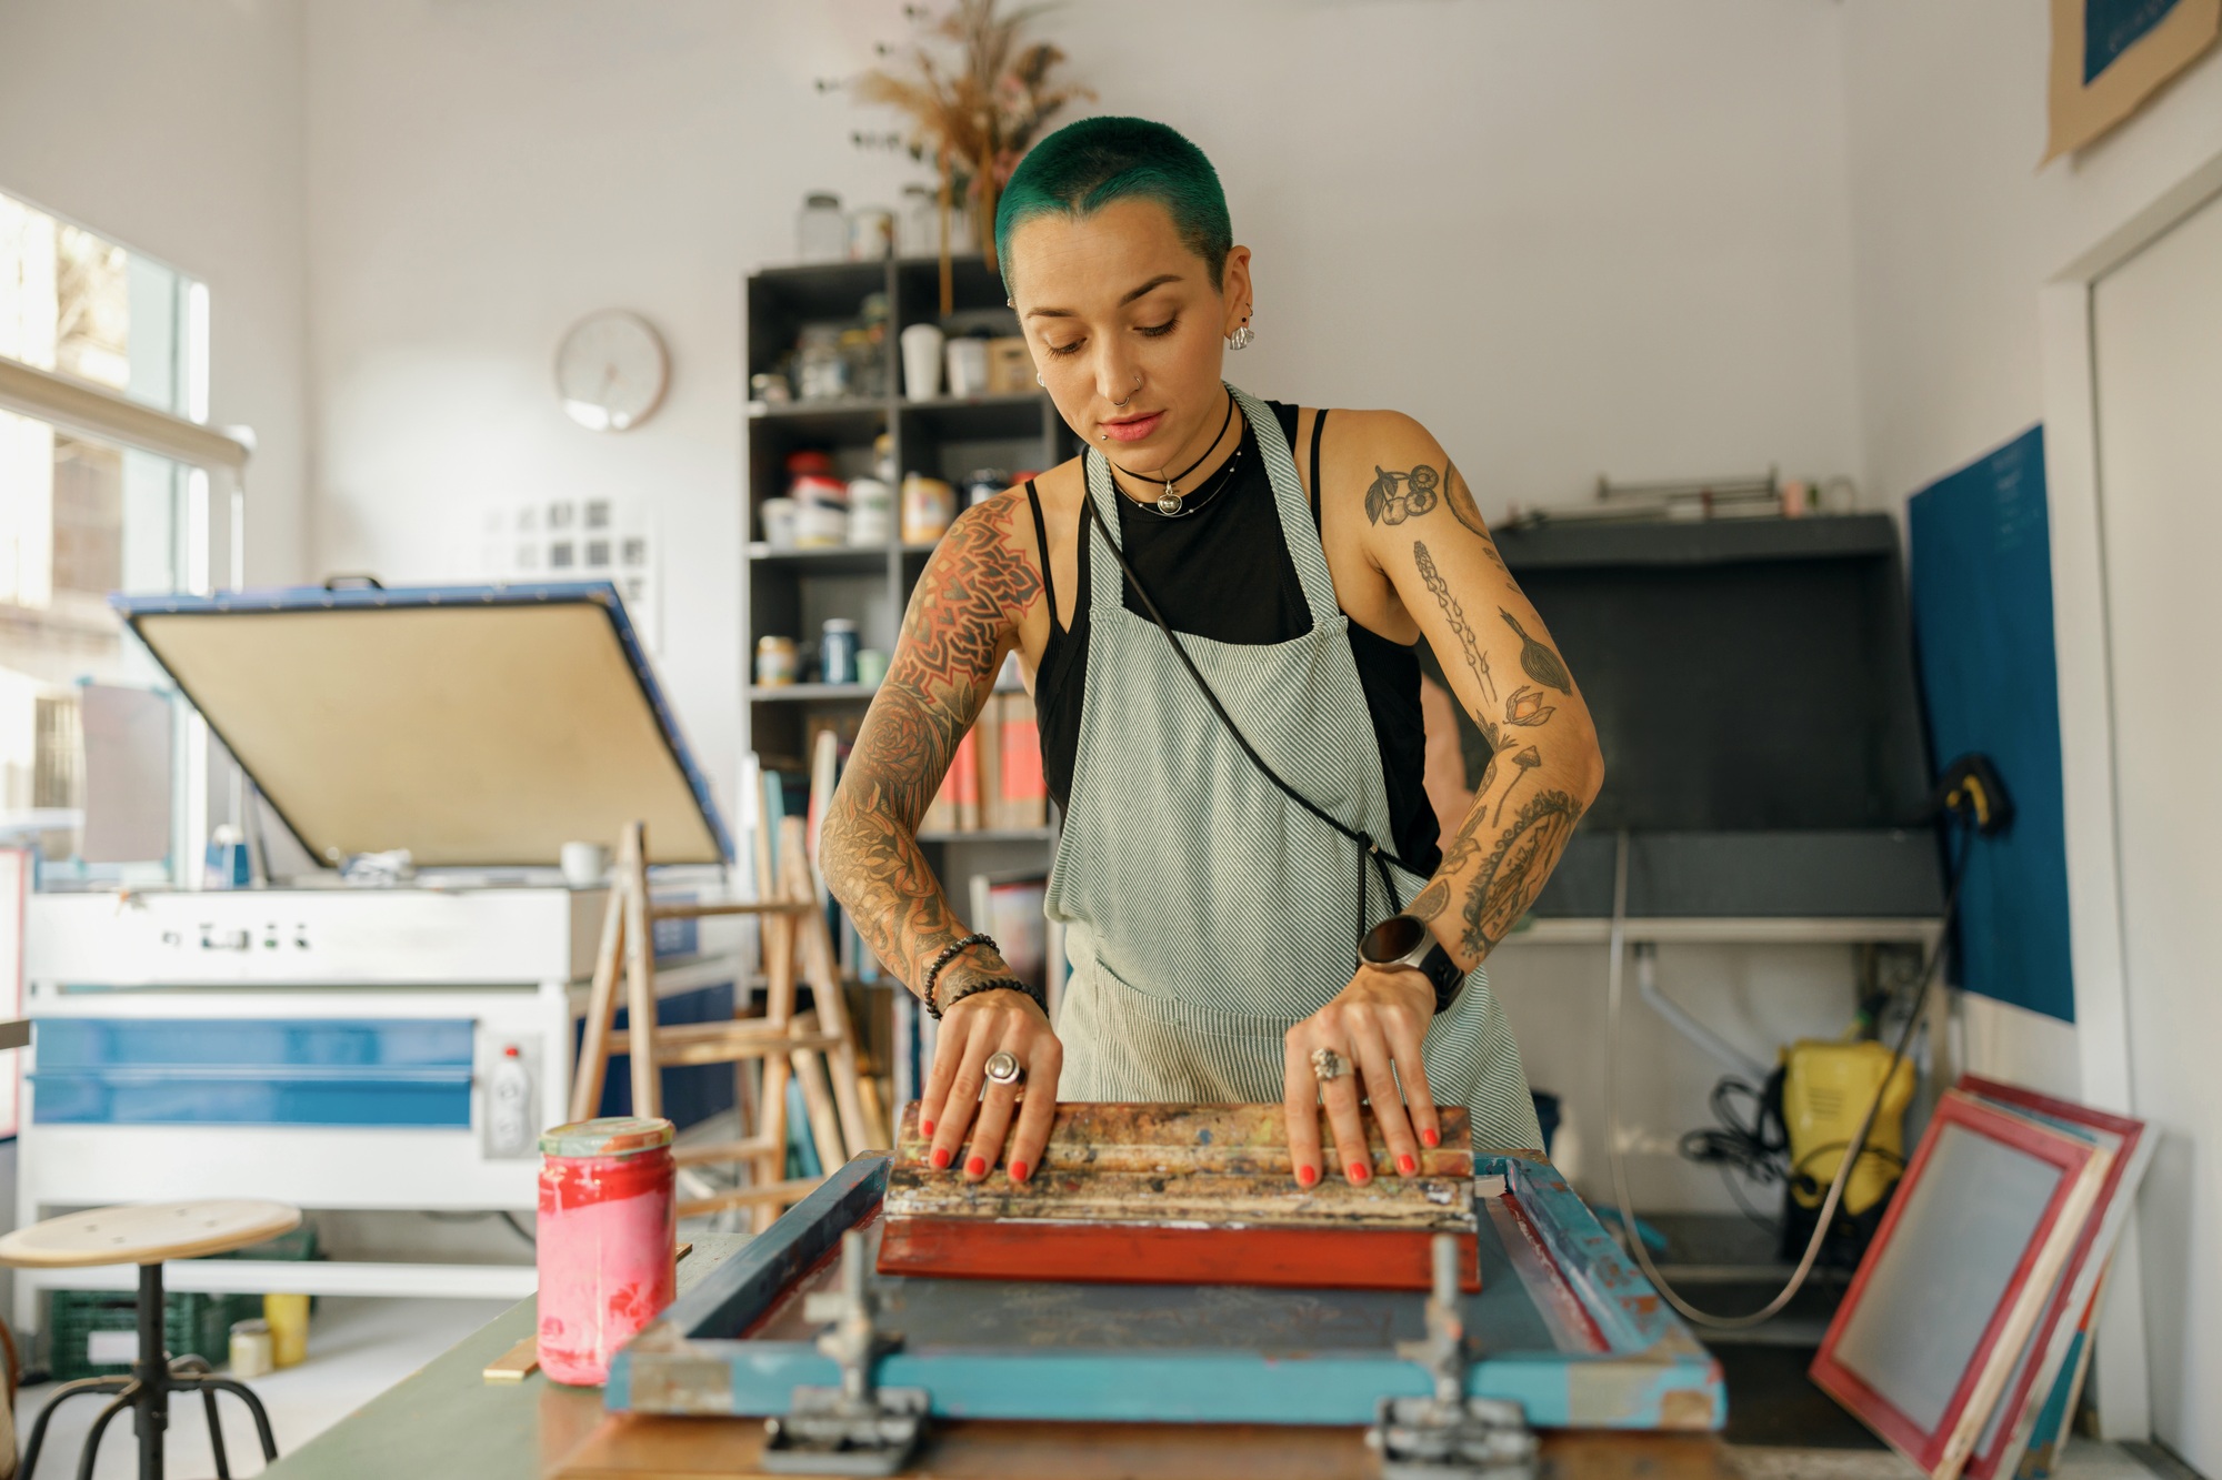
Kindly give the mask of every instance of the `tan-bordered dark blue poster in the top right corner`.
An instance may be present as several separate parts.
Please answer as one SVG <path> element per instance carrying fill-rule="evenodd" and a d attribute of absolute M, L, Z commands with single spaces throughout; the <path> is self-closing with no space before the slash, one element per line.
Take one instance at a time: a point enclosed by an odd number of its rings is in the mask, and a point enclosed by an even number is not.
<path fill-rule="evenodd" d="M 2082 149 L 2222 33 L 2222 0 L 2053 0 L 2044 162 Z"/>

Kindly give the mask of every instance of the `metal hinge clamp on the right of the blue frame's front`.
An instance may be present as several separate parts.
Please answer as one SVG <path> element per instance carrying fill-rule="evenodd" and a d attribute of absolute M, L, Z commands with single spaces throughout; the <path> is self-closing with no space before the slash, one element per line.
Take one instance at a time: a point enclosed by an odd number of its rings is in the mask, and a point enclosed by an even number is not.
<path fill-rule="evenodd" d="M 1458 1240 L 1433 1242 L 1435 1289 L 1427 1298 L 1427 1340 L 1395 1353 L 1435 1380 L 1431 1398 L 1382 1398 L 1367 1447 L 1382 1458 L 1382 1480 L 1529 1480 L 1535 1433 L 1518 1402 L 1467 1398 L 1467 1320 L 1458 1307 Z"/>

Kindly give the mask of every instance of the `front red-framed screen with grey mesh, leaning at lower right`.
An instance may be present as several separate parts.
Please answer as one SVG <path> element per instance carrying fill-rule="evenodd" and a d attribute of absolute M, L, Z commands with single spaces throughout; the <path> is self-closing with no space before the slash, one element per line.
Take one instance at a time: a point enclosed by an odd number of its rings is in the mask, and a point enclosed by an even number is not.
<path fill-rule="evenodd" d="M 1844 1291 L 1813 1382 L 1931 1480 L 1966 1464 L 2113 1156 L 1951 1089 Z"/>

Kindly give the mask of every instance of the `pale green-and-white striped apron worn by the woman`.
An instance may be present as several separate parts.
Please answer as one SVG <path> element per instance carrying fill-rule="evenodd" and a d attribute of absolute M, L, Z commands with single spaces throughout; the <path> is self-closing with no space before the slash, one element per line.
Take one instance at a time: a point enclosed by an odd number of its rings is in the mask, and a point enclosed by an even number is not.
<path fill-rule="evenodd" d="M 1233 393 L 1260 429 L 1311 631 L 1271 644 L 1182 633 L 1182 644 L 1267 764 L 1322 811 L 1389 838 L 1349 618 L 1295 458 L 1271 411 Z M 1093 449 L 1082 458 L 1089 498 L 1104 529 L 1118 529 L 1111 469 Z M 1369 922 L 1395 904 L 1347 838 L 1251 764 L 1155 622 L 1127 611 L 1124 578 L 1093 520 L 1080 520 L 1080 538 L 1091 582 L 1087 700 L 1047 900 L 1071 960 L 1058 1093 L 1278 1102 L 1282 1036 L 1355 971 L 1360 891 Z M 1404 900 L 1427 882 L 1391 871 Z M 1435 1100 L 1471 1107 L 1473 1144 L 1542 1147 L 1520 1049 L 1480 967 L 1429 1027 L 1424 1053 Z"/>

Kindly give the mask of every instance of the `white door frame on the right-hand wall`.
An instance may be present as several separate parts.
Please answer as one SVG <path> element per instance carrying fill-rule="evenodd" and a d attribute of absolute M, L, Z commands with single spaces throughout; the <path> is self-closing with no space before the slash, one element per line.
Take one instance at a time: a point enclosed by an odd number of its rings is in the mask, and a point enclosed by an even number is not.
<path fill-rule="evenodd" d="M 2098 464 L 2093 289 L 2222 196 L 2222 153 L 2162 191 L 2038 289 L 2044 373 L 2044 487 L 2053 547 L 2053 649 L 2060 671 L 2060 771 L 2066 809 L 2069 958 L 2082 1098 L 2135 1113 L 2129 973 L 2122 936 L 2122 833 L 2115 809 L 2113 667 L 2106 600 L 2106 500 Z M 2113 1251 L 2095 1329 L 2091 1391 L 2100 1433 L 2153 1433 L 2138 1216 Z"/>

